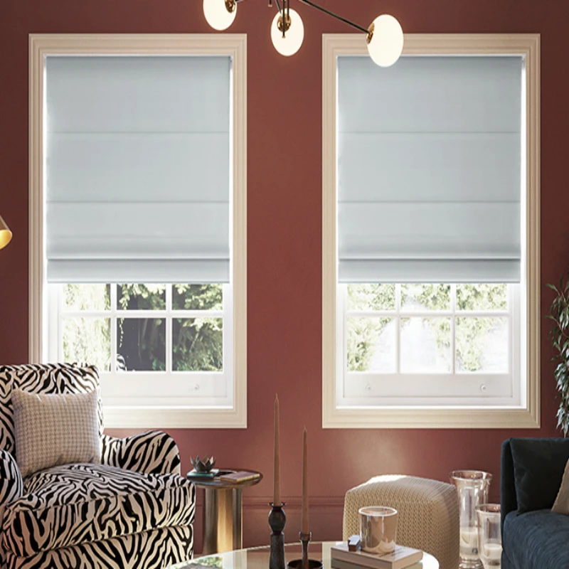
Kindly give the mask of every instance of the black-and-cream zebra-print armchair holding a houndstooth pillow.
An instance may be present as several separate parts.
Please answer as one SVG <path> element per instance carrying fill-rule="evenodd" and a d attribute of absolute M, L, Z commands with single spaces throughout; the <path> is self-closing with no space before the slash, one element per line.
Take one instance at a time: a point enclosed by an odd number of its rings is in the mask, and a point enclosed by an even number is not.
<path fill-rule="evenodd" d="M 158 569 L 191 559 L 196 489 L 164 432 L 102 434 L 101 464 L 64 464 L 22 479 L 11 391 L 87 393 L 94 366 L 0 366 L 0 568 Z"/>

